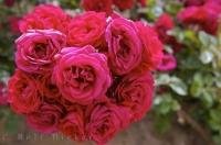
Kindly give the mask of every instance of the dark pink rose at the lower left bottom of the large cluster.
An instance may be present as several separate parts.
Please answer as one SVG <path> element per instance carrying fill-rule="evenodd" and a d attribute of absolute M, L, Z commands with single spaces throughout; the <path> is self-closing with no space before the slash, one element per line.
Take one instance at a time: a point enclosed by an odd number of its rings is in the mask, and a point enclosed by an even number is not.
<path fill-rule="evenodd" d="M 44 102 L 35 112 L 27 115 L 27 123 L 40 133 L 51 134 L 57 131 L 62 113 L 60 105 Z"/>

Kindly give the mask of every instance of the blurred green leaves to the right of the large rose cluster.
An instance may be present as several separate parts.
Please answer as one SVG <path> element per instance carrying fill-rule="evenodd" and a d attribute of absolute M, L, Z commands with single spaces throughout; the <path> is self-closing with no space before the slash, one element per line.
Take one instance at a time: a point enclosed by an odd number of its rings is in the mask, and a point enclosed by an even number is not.
<path fill-rule="evenodd" d="M 175 3 L 167 0 L 161 9 L 175 14 L 178 10 Z M 177 37 L 183 48 L 175 54 L 178 59 L 175 71 L 156 74 L 157 87 L 167 88 L 164 92 L 157 91 L 155 99 L 152 112 L 157 130 L 169 129 L 171 115 L 176 116 L 182 109 L 221 144 L 221 31 L 212 36 L 177 25 L 169 34 Z"/>

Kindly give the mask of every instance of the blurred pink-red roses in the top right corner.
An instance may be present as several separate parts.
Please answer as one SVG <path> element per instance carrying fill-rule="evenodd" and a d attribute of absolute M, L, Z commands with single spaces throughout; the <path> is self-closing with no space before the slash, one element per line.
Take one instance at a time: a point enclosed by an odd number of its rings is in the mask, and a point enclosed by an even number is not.
<path fill-rule="evenodd" d="M 199 29 L 217 34 L 220 15 L 221 0 L 182 0 L 186 8 L 178 13 L 178 20 L 186 25 L 197 25 Z"/>

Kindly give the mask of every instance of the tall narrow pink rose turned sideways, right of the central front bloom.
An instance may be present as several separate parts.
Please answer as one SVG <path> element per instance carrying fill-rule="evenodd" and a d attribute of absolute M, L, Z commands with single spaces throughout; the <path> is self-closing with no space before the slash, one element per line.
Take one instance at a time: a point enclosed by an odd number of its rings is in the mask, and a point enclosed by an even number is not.
<path fill-rule="evenodd" d="M 119 18 L 110 20 L 106 30 L 108 58 L 112 71 L 125 75 L 140 64 L 141 43 L 133 21 Z"/>

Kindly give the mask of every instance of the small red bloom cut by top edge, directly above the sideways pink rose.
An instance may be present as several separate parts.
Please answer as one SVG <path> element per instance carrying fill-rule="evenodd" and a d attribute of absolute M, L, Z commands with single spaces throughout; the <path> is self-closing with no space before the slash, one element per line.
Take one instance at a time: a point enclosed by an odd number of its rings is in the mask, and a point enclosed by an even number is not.
<path fill-rule="evenodd" d="M 134 0 L 113 0 L 113 2 L 119 10 L 131 9 L 135 4 Z"/>

